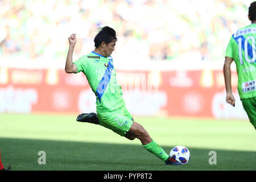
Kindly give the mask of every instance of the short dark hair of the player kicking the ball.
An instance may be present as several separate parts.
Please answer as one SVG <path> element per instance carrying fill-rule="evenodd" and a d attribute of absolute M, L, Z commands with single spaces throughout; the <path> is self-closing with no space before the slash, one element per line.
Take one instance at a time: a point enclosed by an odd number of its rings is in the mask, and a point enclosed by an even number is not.
<path fill-rule="evenodd" d="M 94 46 L 97 48 L 102 42 L 109 44 L 113 40 L 117 40 L 117 34 L 113 28 L 108 26 L 98 28 L 98 34 L 94 38 Z"/>

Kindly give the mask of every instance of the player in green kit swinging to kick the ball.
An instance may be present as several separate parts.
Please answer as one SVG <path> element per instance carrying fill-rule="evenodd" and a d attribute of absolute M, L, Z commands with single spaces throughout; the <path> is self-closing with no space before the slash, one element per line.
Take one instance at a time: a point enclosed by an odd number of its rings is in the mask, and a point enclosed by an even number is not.
<path fill-rule="evenodd" d="M 166 164 L 173 164 L 172 158 L 151 139 L 147 131 L 133 121 L 133 117 L 126 109 L 122 98 L 121 86 L 117 83 L 113 58 L 110 56 L 117 42 L 116 32 L 113 28 L 105 26 L 99 28 L 94 38 L 94 51 L 80 57 L 73 62 L 72 55 L 76 44 L 76 34 L 69 40 L 69 50 L 65 64 L 65 72 L 83 72 L 96 95 L 97 114 L 83 113 L 77 121 L 95 123 L 113 130 L 115 133 L 134 140 L 138 138 L 147 151 L 162 159 Z"/>

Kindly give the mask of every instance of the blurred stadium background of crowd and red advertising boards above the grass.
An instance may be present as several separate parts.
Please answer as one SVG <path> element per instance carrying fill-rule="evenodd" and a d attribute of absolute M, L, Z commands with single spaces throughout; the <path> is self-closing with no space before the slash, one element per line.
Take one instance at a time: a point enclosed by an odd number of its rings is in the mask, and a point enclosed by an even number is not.
<path fill-rule="evenodd" d="M 222 74 L 230 36 L 249 24 L 250 1 L 1 1 L 0 112 L 95 111 L 86 78 L 64 72 L 94 48 L 97 27 L 118 32 L 113 52 L 133 115 L 247 119 L 237 93 L 225 103 Z M 238 15 L 238 16 L 234 16 Z"/>

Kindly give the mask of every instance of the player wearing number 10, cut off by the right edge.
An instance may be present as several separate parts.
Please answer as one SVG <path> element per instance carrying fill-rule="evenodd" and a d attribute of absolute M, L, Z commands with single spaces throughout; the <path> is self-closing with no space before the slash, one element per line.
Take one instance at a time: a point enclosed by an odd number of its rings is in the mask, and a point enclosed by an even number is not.
<path fill-rule="evenodd" d="M 232 94 L 230 64 L 234 60 L 238 75 L 238 93 L 251 124 L 256 129 L 256 2 L 250 4 L 249 20 L 251 24 L 241 28 L 230 38 L 226 49 L 224 77 L 226 86 L 226 102 L 235 106 Z"/>

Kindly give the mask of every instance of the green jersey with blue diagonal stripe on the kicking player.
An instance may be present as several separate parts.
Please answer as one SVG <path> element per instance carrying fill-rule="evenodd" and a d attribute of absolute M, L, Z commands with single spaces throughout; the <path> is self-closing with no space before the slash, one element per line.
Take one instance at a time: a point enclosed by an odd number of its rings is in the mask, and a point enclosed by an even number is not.
<path fill-rule="evenodd" d="M 97 111 L 112 111 L 125 105 L 122 88 L 117 83 L 112 56 L 104 57 L 96 52 L 73 62 L 77 73 L 83 72 L 96 95 Z"/>

